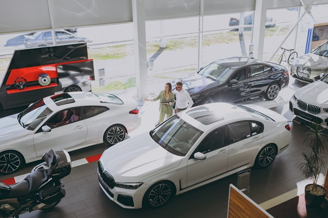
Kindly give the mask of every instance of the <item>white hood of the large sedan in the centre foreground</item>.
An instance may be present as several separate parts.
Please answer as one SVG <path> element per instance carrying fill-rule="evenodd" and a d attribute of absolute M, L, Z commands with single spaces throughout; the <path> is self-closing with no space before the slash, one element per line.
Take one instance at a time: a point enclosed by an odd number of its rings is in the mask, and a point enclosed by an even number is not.
<path fill-rule="evenodd" d="M 100 161 L 116 182 L 129 183 L 175 168 L 182 158 L 166 151 L 145 133 L 107 149 Z"/>

